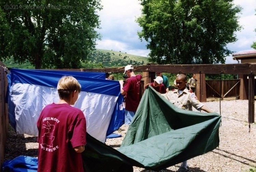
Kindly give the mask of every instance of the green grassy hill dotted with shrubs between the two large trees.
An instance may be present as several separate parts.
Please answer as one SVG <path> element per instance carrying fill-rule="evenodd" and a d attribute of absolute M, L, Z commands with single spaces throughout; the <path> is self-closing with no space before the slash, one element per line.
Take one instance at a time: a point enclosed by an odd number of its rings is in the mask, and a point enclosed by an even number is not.
<path fill-rule="evenodd" d="M 104 67 L 119 67 L 126 65 L 146 65 L 147 57 L 131 55 L 112 50 L 96 49 L 88 59 L 90 62 L 102 63 Z"/>

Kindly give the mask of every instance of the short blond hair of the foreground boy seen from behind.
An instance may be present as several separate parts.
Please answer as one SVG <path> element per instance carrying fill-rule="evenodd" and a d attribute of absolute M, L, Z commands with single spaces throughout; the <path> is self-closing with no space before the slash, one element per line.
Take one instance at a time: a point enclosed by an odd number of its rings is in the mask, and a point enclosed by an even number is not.
<path fill-rule="evenodd" d="M 69 97 L 75 90 L 80 92 L 81 85 L 73 76 L 62 76 L 58 82 L 57 90 L 60 99 L 63 99 Z"/>

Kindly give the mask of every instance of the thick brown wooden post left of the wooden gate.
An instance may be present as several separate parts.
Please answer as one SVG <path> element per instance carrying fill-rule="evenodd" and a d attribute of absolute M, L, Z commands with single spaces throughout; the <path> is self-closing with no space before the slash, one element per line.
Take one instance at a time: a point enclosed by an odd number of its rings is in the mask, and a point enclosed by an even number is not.
<path fill-rule="evenodd" d="M 206 102 L 205 74 L 196 74 L 197 88 L 196 96 L 200 102 Z"/>

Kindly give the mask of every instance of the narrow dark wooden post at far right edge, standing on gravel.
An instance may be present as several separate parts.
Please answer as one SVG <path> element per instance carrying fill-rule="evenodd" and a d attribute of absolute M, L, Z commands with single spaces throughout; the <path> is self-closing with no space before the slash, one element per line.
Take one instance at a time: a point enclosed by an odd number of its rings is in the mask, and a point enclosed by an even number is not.
<path fill-rule="evenodd" d="M 254 123 L 254 75 L 249 75 L 249 83 L 248 83 L 248 96 L 249 96 L 249 107 L 248 107 L 248 123 Z"/>

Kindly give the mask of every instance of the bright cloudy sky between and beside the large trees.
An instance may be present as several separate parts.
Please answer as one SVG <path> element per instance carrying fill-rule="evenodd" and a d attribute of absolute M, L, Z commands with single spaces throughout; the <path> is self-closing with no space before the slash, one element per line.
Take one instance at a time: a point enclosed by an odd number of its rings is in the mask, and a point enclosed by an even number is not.
<path fill-rule="evenodd" d="M 136 18 L 141 15 L 139 0 L 101 0 L 103 9 L 98 12 L 102 35 L 97 40 L 97 49 L 121 51 L 123 53 L 148 57 L 150 50 L 146 48 L 147 42 L 141 41 L 137 34 L 142 28 L 136 23 Z M 238 14 L 239 24 L 243 29 L 236 32 L 238 41 L 227 44 L 230 51 L 242 53 L 253 51 L 251 45 L 256 41 L 256 3 L 255 0 L 234 0 L 235 5 L 240 5 L 242 14 Z M 232 59 L 232 54 L 226 57 L 226 63 L 238 63 Z"/>

